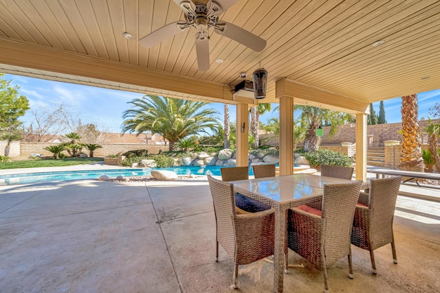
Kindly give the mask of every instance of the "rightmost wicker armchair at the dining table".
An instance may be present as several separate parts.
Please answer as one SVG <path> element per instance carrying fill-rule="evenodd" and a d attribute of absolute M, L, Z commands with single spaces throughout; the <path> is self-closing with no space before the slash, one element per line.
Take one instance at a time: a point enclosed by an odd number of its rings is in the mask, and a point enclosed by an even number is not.
<path fill-rule="evenodd" d="M 401 176 L 371 179 L 369 194 L 360 193 L 356 206 L 351 244 L 369 250 L 373 274 L 377 274 L 373 250 L 391 244 L 393 262 L 397 263 L 393 234 L 394 209 Z"/>

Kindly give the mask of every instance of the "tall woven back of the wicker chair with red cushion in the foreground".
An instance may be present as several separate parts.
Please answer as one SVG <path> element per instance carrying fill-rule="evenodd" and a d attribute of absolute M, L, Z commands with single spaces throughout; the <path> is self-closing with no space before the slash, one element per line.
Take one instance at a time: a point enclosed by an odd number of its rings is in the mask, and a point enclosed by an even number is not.
<path fill-rule="evenodd" d="M 351 226 L 362 180 L 324 185 L 322 235 L 327 266 L 349 255 Z"/>

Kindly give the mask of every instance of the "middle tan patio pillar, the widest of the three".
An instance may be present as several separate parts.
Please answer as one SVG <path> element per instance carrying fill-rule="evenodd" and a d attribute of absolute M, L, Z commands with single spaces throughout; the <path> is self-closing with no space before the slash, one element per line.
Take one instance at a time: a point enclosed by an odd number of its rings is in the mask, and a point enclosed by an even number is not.
<path fill-rule="evenodd" d="M 280 97 L 280 175 L 294 174 L 294 98 Z"/>

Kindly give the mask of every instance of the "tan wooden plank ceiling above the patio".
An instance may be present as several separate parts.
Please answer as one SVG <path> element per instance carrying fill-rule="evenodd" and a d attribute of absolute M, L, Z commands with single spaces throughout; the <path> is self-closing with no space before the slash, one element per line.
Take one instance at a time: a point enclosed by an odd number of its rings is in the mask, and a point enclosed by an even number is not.
<path fill-rule="evenodd" d="M 199 71 L 194 29 L 151 49 L 138 45 L 150 32 L 184 19 L 171 0 L 0 0 L 0 42 L 38 45 L 228 87 L 241 82 L 243 71 L 250 78 L 261 62 L 269 73 L 264 102 L 277 102 L 275 82 L 282 78 L 365 103 L 440 87 L 440 1 L 239 0 L 220 18 L 267 40 L 267 46 L 255 52 L 211 34 L 210 69 Z M 134 38 L 127 40 L 124 32 Z M 373 47 L 377 40 L 386 42 Z M 72 78 L 59 69 L 52 74 L 23 69 L 7 56 L 0 63 L 3 72 L 118 88 L 114 81 Z M 135 84 L 120 88 L 167 93 Z M 184 91 L 172 94 L 199 98 Z"/>

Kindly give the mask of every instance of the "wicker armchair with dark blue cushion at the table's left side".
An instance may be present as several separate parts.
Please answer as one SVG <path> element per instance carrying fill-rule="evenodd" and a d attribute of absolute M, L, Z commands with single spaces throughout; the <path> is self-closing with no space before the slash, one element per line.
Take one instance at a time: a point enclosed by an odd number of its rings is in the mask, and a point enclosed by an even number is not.
<path fill-rule="evenodd" d="M 274 254 L 274 209 L 237 215 L 234 212 L 234 187 L 208 176 L 214 202 L 216 224 L 215 261 L 219 261 L 219 244 L 234 260 L 233 287 L 237 288 L 239 265 Z"/>

